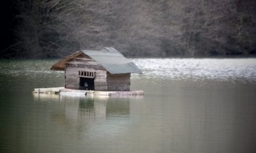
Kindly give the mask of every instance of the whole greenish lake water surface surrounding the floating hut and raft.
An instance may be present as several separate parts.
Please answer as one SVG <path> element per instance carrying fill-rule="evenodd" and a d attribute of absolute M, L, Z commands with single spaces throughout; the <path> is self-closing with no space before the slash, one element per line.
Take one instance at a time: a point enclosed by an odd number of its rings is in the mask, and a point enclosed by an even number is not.
<path fill-rule="evenodd" d="M 140 97 L 33 94 L 57 60 L 0 60 L 0 152 L 256 152 L 256 59 L 134 59 Z"/>

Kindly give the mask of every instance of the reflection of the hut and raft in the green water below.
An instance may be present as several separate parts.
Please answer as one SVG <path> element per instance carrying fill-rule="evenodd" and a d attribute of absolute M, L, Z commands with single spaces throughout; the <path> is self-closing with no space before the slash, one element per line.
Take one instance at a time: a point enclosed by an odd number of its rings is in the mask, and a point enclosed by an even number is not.
<path fill-rule="evenodd" d="M 68 122 L 91 122 L 108 119 L 109 117 L 129 117 L 129 98 L 109 97 L 70 97 L 59 94 L 34 94 L 34 100 L 42 104 L 54 104 L 51 107 L 51 116 L 60 122 L 61 118 Z M 63 122 L 63 121 L 61 121 Z M 76 124 L 76 123 L 74 123 Z"/>

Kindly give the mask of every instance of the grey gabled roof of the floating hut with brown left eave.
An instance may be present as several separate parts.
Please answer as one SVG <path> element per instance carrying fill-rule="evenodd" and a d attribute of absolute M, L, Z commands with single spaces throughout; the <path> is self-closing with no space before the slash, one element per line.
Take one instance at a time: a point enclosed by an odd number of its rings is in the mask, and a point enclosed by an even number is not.
<path fill-rule="evenodd" d="M 131 60 L 126 59 L 122 53 L 118 52 L 118 50 L 114 48 L 104 48 L 100 51 L 80 50 L 79 52 L 71 54 L 65 57 L 65 59 L 62 59 L 61 61 L 58 61 L 58 63 L 52 65 L 51 70 L 65 70 L 66 61 L 73 59 L 82 53 L 97 61 L 111 74 L 142 73 L 140 68 L 138 68 Z"/>

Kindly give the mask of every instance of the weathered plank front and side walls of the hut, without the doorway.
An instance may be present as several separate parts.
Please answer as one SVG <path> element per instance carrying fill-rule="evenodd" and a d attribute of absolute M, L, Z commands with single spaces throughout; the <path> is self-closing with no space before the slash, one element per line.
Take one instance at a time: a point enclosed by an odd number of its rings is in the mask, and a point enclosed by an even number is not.
<path fill-rule="evenodd" d="M 129 91 L 130 74 L 110 74 L 106 72 L 97 61 L 91 59 L 85 54 L 67 61 L 65 68 L 65 88 L 79 89 L 80 77 L 79 71 L 95 71 L 94 89 L 110 91 Z"/>

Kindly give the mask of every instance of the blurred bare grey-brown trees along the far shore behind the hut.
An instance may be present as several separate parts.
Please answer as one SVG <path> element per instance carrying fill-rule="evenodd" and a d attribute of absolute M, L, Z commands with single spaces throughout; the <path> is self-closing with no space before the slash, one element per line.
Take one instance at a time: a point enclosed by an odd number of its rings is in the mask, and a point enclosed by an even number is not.
<path fill-rule="evenodd" d="M 255 0 L 10 0 L 1 58 L 44 59 L 112 46 L 127 57 L 256 54 Z"/>

